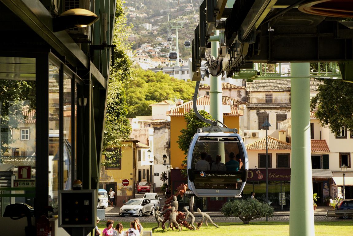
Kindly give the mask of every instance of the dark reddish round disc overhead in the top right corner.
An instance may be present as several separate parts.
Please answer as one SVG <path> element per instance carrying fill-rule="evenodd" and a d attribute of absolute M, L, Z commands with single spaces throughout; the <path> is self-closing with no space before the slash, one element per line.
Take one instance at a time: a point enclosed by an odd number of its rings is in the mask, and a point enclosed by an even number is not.
<path fill-rule="evenodd" d="M 306 2 L 298 10 L 308 14 L 353 18 L 352 0 L 317 0 Z"/>

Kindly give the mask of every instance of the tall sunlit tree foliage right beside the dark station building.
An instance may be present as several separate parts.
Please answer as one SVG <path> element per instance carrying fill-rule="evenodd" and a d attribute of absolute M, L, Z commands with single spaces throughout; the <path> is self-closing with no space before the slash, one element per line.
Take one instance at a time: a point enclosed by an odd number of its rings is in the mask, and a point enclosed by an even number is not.
<path fill-rule="evenodd" d="M 127 140 L 131 133 L 131 126 L 126 118 L 127 104 L 123 86 L 123 83 L 130 77 L 130 67 L 132 65 L 126 54 L 130 45 L 124 43 L 127 42 L 126 30 L 129 27 L 126 25 L 122 1 L 118 1 L 113 34 L 113 44 L 116 45 L 114 50 L 115 65 L 110 70 L 103 140 L 103 154 L 108 158 L 121 158 L 121 155 L 116 151 L 118 149 L 109 148 L 121 146 L 121 141 Z M 112 158 L 110 160 L 114 161 Z"/>

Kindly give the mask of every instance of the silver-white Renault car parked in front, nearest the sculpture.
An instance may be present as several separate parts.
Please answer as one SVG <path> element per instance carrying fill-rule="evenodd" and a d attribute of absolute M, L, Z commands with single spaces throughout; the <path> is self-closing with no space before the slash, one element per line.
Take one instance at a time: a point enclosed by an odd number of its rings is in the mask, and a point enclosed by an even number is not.
<path fill-rule="evenodd" d="M 128 200 L 124 206 L 120 208 L 119 216 L 134 216 L 142 217 L 143 214 L 150 213 L 151 216 L 154 215 L 154 205 L 149 199 L 144 198 L 134 198 Z"/>

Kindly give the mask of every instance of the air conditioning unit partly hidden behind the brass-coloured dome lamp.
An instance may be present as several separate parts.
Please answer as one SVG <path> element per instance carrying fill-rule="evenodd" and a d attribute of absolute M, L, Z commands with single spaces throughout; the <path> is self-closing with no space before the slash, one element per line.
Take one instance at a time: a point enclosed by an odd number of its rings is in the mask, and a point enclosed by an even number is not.
<path fill-rule="evenodd" d="M 64 0 L 63 6 L 64 6 L 63 7 L 64 11 L 74 9 L 74 8 L 82 8 L 85 10 L 91 10 L 91 1 L 90 0 Z M 73 38 L 73 40 L 75 42 L 90 41 L 90 39 L 91 39 L 91 27 L 90 26 L 87 26 L 84 28 L 68 29 L 68 30 L 66 30 L 66 32 Z"/>

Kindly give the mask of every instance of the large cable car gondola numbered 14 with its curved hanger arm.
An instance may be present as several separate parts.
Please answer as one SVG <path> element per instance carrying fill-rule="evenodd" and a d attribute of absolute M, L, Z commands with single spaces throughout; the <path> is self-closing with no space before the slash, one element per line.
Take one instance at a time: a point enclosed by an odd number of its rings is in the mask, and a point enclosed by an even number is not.
<path fill-rule="evenodd" d="M 186 167 L 188 187 L 196 196 L 241 197 L 249 170 L 245 144 L 237 129 L 222 127 L 218 124 L 220 122 L 201 116 L 196 107 L 198 86 L 199 81 L 196 83 L 193 109 L 198 118 L 211 126 L 198 129 L 191 140 Z M 237 158 L 243 162 L 240 170 Z"/>

